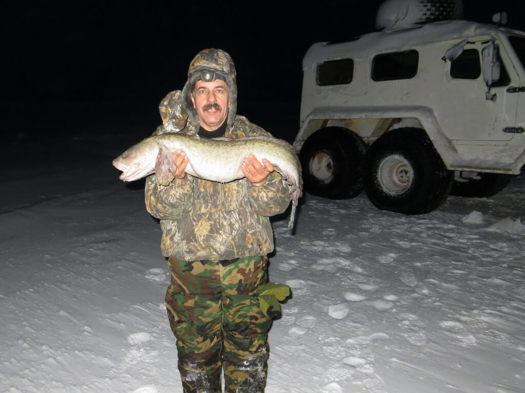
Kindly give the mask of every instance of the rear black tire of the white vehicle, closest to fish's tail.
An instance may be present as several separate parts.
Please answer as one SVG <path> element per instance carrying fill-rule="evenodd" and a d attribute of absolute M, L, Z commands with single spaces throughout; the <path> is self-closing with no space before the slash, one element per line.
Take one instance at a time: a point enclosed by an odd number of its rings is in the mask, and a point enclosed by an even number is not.
<path fill-rule="evenodd" d="M 349 129 L 317 130 L 299 153 L 304 189 L 330 199 L 357 196 L 363 189 L 365 151 L 364 141 Z"/>

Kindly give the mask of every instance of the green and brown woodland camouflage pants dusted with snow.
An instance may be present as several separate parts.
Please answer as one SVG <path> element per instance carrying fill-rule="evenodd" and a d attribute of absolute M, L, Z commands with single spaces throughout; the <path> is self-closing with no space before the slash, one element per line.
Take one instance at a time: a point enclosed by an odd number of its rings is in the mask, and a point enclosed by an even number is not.
<path fill-rule="evenodd" d="M 259 307 L 257 287 L 268 280 L 266 262 L 168 260 L 166 308 L 185 393 L 219 393 L 223 369 L 226 393 L 264 392 L 271 318 Z"/>

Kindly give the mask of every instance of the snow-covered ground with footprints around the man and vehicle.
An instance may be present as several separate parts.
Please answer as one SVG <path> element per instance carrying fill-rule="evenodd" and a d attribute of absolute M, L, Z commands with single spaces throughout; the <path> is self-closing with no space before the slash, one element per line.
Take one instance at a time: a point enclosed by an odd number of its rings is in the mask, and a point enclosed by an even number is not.
<path fill-rule="evenodd" d="M 182 392 L 159 224 L 111 166 L 148 134 L 0 147 L 1 392 Z M 525 176 L 420 216 L 304 196 L 266 391 L 525 391 L 524 204 Z"/>

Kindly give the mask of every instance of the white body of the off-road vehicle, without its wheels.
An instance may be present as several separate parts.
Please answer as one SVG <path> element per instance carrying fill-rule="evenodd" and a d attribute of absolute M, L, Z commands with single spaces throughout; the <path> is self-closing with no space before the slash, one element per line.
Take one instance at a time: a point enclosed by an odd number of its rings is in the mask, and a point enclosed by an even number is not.
<path fill-rule="evenodd" d="M 413 74 L 390 78 L 393 55 L 410 57 Z M 294 147 L 300 151 L 325 127 L 351 130 L 367 146 L 412 127 L 424 130 L 447 170 L 519 174 L 525 164 L 524 63 L 524 32 L 465 20 L 316 43 L 303 59 Z M 343 65 L 352 70 L 328 79 L 322 74 Z"/>

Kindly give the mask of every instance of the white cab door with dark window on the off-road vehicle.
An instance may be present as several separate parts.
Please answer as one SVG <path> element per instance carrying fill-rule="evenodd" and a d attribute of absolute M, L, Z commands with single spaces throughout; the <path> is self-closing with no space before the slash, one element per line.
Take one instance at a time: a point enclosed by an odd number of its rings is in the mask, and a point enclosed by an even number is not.
<path fill-rule="evenodd" d="M 498 39 L 488 37 L 458 40 L 454 45 L 459 54 L 453 60 L 444 57 L 440 117 L 444 119 L 445 133 L 460 144 L 512 139 L 514 134 L 508 132 L 508 127 L 516 122 L 518 94 L 507 89 L 519 86 L 520 81 L 505 47 Z M 488 49 L 494 51 L 494 59 L 499 62 L 499 76 L 487 69 L 487 61 L 482 61 L 482 52 L 488 46 L 493 46 Z M 484 77 L 490 72 L 495 78 L 489 87 Z"/>

